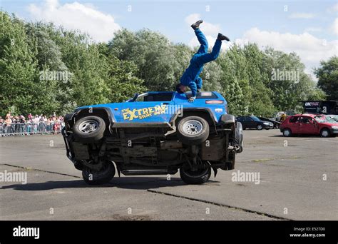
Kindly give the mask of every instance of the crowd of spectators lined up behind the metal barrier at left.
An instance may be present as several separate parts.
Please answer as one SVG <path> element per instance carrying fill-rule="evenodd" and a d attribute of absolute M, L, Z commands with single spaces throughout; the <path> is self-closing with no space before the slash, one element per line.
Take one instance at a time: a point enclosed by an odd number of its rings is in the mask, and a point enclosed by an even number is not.
<path fill-rule="evenodd" d="M 31 134 L 49 134 L 60 133 L 63 128 L 63 116 L 45 116 L 35 115 L 31 113 L 28 116 L 12 115 L 11 112 L 7 113 L 5 118 L 0 116 L 0 135 L 1 136 L 29 136 Z"/>

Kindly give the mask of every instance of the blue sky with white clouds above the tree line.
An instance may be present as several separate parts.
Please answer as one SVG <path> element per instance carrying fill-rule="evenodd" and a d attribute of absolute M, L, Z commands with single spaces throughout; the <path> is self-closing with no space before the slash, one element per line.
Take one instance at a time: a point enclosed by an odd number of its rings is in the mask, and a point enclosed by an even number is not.
<path fill-rule="evenodd" d="M 96 41 L 113 32 L 148 28 L 170 41 L 195 46 L 192 21 L 213 42 L 217 32 L 232 42 L 256 42 L 281 51 L 295 51 L 307 72 L 320 60 L 337 55 L 338 1 L 61 1 L 0 0 L 3 11 L 28 21 L 43 20 L 81 29 Z M 225 51 L 227 46 L 225 46 Z"/>

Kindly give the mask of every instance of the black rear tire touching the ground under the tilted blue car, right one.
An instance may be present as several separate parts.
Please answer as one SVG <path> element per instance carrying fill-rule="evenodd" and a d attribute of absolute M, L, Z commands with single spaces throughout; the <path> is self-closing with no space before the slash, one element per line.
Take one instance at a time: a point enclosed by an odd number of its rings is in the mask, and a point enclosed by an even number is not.
<path fill-rule="evenodd" d="M 211 168 L 203 168 L 197 171 L 180 168 L 180 178 L 188 185 L 200 185 L 206 183 L 211 176 Z"/>

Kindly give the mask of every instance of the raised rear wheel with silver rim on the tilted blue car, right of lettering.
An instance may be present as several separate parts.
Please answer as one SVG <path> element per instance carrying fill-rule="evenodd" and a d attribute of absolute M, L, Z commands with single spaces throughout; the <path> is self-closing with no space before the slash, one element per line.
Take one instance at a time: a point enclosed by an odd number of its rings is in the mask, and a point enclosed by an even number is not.
<path fill-rule="evenodd" d="M 199 116 L 188 116 L 178 121 L 178 139 L 184 144 L 198 145 L 209 137 L 209 124 Z"/>

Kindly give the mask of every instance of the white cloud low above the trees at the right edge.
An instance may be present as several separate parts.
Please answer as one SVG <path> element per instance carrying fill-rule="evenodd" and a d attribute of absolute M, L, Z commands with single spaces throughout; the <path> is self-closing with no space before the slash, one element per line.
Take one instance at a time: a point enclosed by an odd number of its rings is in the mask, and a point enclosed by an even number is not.
<path fill-rule="evenodd" d="M 252 28 L 245 32 L 242 39 L 237 39 L 237 44 L 245 44 L 247 41 L 255 42 L 260 47 L 272 46 L 276 50 L 286 53 L 295 52 L 310 73 L 313 67 L 319 66 L 321 60 L 327 60 L 331 56 L 338 55 L 338 40 L 326 41 L 304 32 L 303 34 L 281 34 L 276 31 L 261 31 Z"/>

